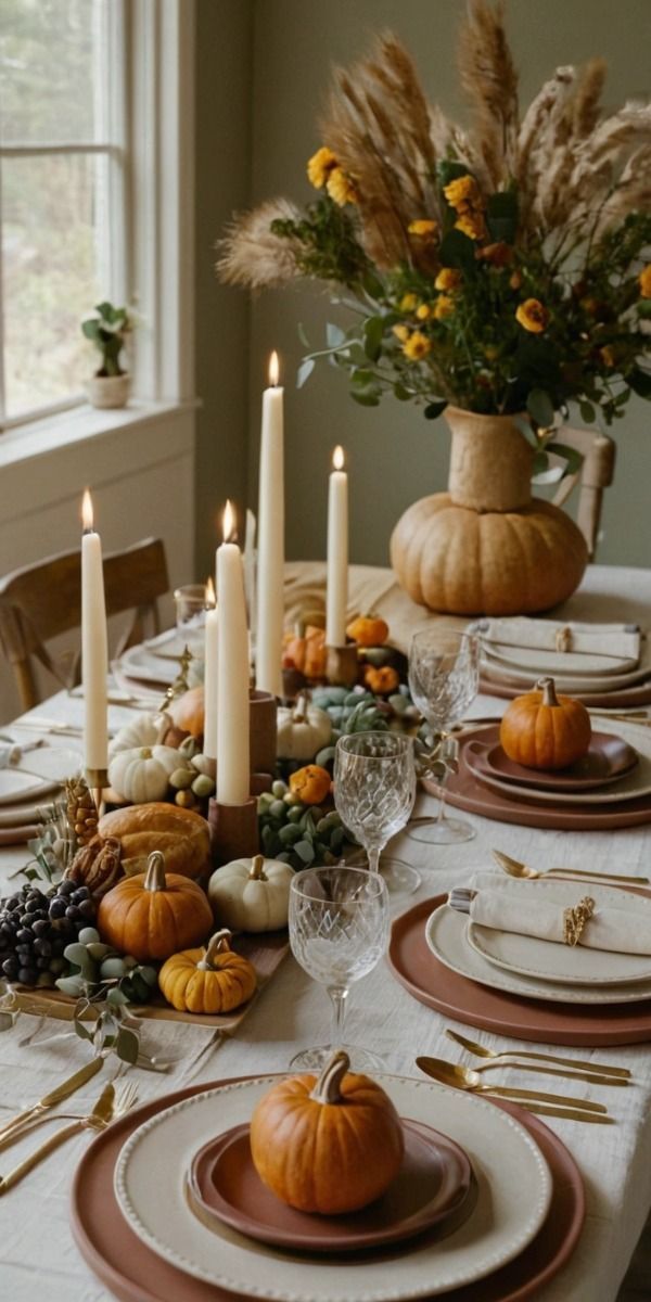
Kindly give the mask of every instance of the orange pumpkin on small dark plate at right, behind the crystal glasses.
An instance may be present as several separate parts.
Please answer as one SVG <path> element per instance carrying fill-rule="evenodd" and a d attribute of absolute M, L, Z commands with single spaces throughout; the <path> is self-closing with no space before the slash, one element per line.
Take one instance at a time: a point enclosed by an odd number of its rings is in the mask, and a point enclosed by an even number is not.
<path fill-rule="evenodd" d="M 581 700 L 557 697 L 553 678 L 516 697 L 500 724 L 501 747 L 525 768 L 566 768 L 590 746 L 590 715 Z"/>

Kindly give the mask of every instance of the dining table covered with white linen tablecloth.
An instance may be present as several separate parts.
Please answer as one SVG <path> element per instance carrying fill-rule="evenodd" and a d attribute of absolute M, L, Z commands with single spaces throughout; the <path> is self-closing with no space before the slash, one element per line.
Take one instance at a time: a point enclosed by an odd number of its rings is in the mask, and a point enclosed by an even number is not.
<path fill-rule="evenodd" d="M 319 602 L 323 579 L 324 566 L 320 562 L 286 566 L 288 624 L 297 612 Z M 391 570 L 374 566 L 352 566 L 349 608 L 372 608 L 384 615 L 392 633 L 400 629 L 404 635 L 410 628 L 436 618 L 405 598 Z M 578 591 L 553 616 L 595 622 L 617 620 L 644 628 L 650 624 L 650 612 L 651 569 L 592 565 Z M 504 699 L 480 694 L 469 708 L 467 717 L 499 717 L 505 704 Z M 112 730 L 133 717 L 135 711 L 129 706 L 109 704 Z M 17 741 L 33 738 L 33 719 L 60 721 L 70 729 L 79 729 L 79 733 L 57 734 L 49 725 L 43 725 L 43 736 L 48 746 L 81 750 L 83 700 L 79 695 L 60 691 L 10 725 L 3 724 L 1 730 L 9 732 Z M 415 812 L 428 815 L 435 806 L 432 796 L 421 793 Z M 464 816 L 477 833 L 464 844 L 428 846 L 413 840 L 409 828 L 395 838 L 391 850 L 413 865 L 422 879 L 415 894 L 392 897 L 395 915 L 419 901 L 464 885 L 477 870 L 490 868 L 492 849 L 542 871 L 562 865 L 651 876 L 651 835 L 644 825 L 574 832 L 500 823 L 475 814 Z M 25 845 L 0 850 L 1 894 L 16 888 L 20 879 L 12 875 L 27 858 Z M 388 963 L 380 963 L 353 986 L 349 1005 L 346 1039 L 352 1044 L 372 1047 L 384 1060 L 388 1073 L 418 1077 L 415 1059 L 419 1055 L 470 1064 L 467 1053 L 445 1036 L 447 1027 L 465 1032 L 492 1049 L 517 1051 L 521 1044 L 506 1035 L 473 1031 L 467 1025 L 443 1017 L 411 997 L 395 979 Z M 230 1077 L 281 1073 L 288 1069 L 297 1048 L 327 1040 L 328 1029 L 326 991 L 288 954 L 232 1035 L 211 1026 L 143 1018 L 142 1048 L 159 1064 L 165 1064 L 167 1070 L 133 1068 L 129 1077 L 137 1082 L 138 1099 L 145 1103 L 187 1085 L 208 1086 Z M 553 1052 L 549 1044 L 526 1046 L 538 1047 Z M 651 1208 L 650 1047 L 564 1047 L 561 1052 L 570 1059 L 592 1056 L 598 1061 L 628 1068 L 633 1079 L 629 1087 L 620 1090 L 572 1082 L 573 1094 L 607 1101 L 615 1125 L 585 1125 L 544 1117 L 546 1125 L 559 1134 L 578 1164 L 587 1215 L 573 1255 L 560 1273 L 536 1293 L 536 1299 L 616 1302 L 618 1297 L 625 1297 L 620 1293 L 622 1280 Z M 74 1068 L 82 1066 L 87 1057 L 87 1043 L 77 1038 L 69 1022 L 21 1013 L 14 1025 L 0 1034 L 0 1124 L 21 1107 L 34 1103 Z M 116 1065 L 116 1060 L 113 1065 L 105 1064 L 103 1077 L 108 1078 Z M 526 1065 L 517 1070 L 493 1072 L 491 1081 L 540 1088 L 540 1077 L 527 1070 Z M 555 1081 L 553 1086 L 559 1092 L 570 1090 L 564 1081 Z M 90 1108 L 96 1094 L 95 1078 L 74 1096 L 73 1111 L 83 1111 L 85 1105 Z M 33 1137 L 23 1138 L 3 1152 L 0 1170 L 9 1160 L 13 1165 L 14 1157 L 22 1157 L 33 1142 Z M 7 1302 L 35 1302 L 43 1295 L 48 1302 L 109 1302 L 112 1294 L 79 1255 L 69 1224 L 74 1170 L 90 1142 L 87 1133 L 72 1138 L 0 1199 L 0 1294 Z M 522 1190 L 522 1197 L 526 1198 L 526 1190 Z M 279 1282 L 281 1264 L 276 1269 Z M 648 1297 L 651 1281 L 647 1282 Z M 642 1298 L 644 1293 L 630 1295 Z"/>

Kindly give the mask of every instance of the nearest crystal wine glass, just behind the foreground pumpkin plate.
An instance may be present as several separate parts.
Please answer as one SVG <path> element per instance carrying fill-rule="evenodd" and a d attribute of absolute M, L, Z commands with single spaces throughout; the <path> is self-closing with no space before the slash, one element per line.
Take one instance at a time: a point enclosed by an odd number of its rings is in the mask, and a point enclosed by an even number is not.
<path fill-rule="evenodd" d="M 379 963 L 389 935 L 387 887 L 366 868 L 306 868 L 289 891 L 289 944 L 294 958 L 332 1001 L 332 1043 L 303 1049 L 289 1064 L 319 1070 L 333 1048 L 346 1048 L 354 1072 L 381 1070 L 375 1053 L 344 1046 L 350 986 Z"/>

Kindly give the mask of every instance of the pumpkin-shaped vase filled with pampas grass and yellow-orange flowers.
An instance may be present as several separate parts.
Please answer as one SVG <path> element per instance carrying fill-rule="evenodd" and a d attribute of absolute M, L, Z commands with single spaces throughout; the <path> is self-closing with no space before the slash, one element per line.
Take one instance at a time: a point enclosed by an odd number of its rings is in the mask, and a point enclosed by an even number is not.
<path fill-rule="evenodd" d="M 521 112 L 491 0 L 470 0 L 458 61 L 469 129 L 428 104 L 392 35 L 336 73 L 314 201 L 237 217 L 219 271 L 255 289 L 320 281 L 352 309 L 299 384 L 326 359 L 365 406 L 392 393 L 445 413 L 449 492 L 396 526 L 397 578 L 435 609 L 525 613 L 569 596 L 587 561 L 573 521 L 530 491 L 549 453 L 577 470 L 555 437 L 568 402 L 609 424 L 651 397 L 651 105 L 604 115 L 595 59 Z"/>

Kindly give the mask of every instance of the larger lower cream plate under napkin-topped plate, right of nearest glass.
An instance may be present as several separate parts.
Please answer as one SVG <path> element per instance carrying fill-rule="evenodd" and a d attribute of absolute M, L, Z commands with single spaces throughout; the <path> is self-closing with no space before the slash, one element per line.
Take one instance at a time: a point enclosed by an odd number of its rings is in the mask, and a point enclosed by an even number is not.
<path fill-rule="evenodd" d="M 575 883 L 572 883 L 575 887 Z M 590 891 L 592 885 L 590 884 Z M 575 901 L 574 901 L 575 902 Z M 651 901 L 642 901 L 651 904 Z M 486 928 L 487 930 L 487 928 Z M 512 969 L 499 966 L 493 960 L 488 960 L 475 949 L 467 937 L 467 915 L 441 905 L 435 909 L 426 923 L 426 940 L 436 958 L 445 967 L 467 976 L 469 980 L 480 986 L 490 986 L 493 990 L 503 990 L 506 995 L 518 995 L 521 999 L 551 1000 L 555 1004 L 641 1004 L 651 999 L 651 980 L 639 980 L 628 984 L 611 986 L 608 983 L 598 986 L 583 984 L 572 986 L 560 980 L 549 980 L 542 976 L 529 976 L 516 973 Z M 544 941 L 540 941 L 544 944 Z M 549 947 L 551 948 L 551 947 Z M 559 947 L 560 948 L 560 947 Z M 603 958 L 603 950 L 594 950 Z"/>

